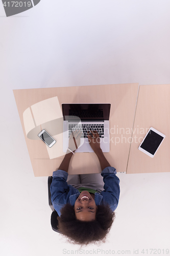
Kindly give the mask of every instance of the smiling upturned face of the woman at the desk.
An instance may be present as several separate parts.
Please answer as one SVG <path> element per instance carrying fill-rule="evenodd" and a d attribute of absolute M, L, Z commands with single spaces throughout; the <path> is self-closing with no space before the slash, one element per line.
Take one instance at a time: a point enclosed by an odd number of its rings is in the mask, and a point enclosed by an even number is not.
<path fill-rule="evenodd" d="M 88 191 L 82 191 L 75 202 L 75 215 L 80 221 L 93 221 L 95 220 L 96 206 L 94 199 Z"/>

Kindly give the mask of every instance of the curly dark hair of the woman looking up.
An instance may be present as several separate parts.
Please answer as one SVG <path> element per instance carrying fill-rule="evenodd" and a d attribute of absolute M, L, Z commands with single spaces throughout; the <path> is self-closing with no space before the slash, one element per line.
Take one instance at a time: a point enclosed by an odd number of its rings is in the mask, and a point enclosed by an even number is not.
<path fill-rule="evenodd" d="M 98 244 L 101 240 L 105 243 L 106 235 L 110 231 L 114 218 L 115 213 L 109 205 L 98 205 L 95 220 L 80 221 L 76 219 L 74 206 L 67 203 L 61 209 L 61 216 L 57 217 L 58 229 L 70 243 Z"/>

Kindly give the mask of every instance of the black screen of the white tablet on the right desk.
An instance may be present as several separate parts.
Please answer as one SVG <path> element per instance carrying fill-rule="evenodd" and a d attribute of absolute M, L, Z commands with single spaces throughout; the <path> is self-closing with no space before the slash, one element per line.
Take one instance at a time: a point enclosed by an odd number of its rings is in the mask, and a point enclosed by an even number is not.
<path fill-rule="evenodd" d="M 162 140 L 162 136 L 150 130 L 140 147 L 154 155 Z"/>

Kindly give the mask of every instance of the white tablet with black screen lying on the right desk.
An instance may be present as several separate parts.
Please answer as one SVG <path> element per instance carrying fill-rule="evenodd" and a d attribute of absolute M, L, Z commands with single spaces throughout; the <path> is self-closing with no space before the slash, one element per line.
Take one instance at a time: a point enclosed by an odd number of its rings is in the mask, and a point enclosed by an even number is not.
<path fill-rule="evenodd" d="M 164 138 L 164 134 L 151 127 L 138 149 L 148 156 L 154 157 Z"/>

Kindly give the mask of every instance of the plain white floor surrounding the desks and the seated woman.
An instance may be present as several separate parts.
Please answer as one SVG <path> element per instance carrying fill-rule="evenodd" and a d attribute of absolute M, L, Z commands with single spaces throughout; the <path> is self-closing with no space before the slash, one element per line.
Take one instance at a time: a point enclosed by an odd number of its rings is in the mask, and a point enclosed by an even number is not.
<path fill-rule="evenodd" d="M 169 11 L 169 0 L 41 0 L 7 18 L 0 3 L 2 256 L 170 253 L 170 173 L 117 174 L 116 219 L 99 247 L 76 251 L 52 230 L 47 177 L 34 177 L 12 91 L 169 84 Z"/>

